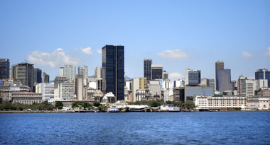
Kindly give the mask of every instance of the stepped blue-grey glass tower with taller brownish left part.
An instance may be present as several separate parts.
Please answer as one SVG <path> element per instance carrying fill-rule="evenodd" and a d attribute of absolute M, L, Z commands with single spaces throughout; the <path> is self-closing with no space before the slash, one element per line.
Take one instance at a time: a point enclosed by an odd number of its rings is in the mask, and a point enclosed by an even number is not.
<path fill-rule="evenodd" d="M 215 78 L 217 91 L 232 91 L 231 69 L 224 69 L 224 62 L 215 63 Z"/>

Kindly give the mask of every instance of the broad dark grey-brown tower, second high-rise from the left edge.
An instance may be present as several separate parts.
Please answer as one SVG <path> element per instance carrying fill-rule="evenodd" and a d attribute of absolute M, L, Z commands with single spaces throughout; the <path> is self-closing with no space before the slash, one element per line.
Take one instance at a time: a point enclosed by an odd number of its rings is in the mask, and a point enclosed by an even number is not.
<path fill-rule="evenodd" d="M 25 62 L 17 64 L 16 79 L 21 80 L 23 86 L 29 86 L 33 91 L 33 64 Z"/>

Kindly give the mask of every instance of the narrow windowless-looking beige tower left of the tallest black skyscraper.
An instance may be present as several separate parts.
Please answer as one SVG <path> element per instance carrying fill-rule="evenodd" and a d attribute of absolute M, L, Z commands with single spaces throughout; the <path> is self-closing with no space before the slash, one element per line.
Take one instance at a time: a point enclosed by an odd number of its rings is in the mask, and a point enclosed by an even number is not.
<path fill-rule="evenodd" d="M 83 75 L 77 75 L 75 79 L 75 94 L 77 100 L 85 100 L 85 88 L 84 88 Z"/>

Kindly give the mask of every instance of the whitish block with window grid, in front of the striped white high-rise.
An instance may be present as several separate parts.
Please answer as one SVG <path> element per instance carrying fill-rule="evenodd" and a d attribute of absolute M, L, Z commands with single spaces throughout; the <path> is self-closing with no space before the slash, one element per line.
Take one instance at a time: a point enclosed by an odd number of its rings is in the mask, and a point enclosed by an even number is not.
<path fill-rule="evenodd" d="M 54 98 L 60 100 L 74 100 L 74 83 L 66 76 L 55 77 Z"/>

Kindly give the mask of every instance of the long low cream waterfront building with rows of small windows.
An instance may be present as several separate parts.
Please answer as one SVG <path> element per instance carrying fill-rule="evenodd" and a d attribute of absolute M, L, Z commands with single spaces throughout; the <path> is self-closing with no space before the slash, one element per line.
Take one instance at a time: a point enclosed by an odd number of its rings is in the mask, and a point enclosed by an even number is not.
<path fill-rule="evenodd" d="M 201 109 L 242 108 L 247 105 L 247 98 L 241 95 L 196 95 L 193 101 Z"/>

